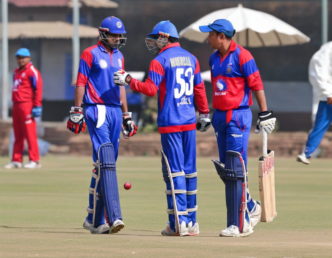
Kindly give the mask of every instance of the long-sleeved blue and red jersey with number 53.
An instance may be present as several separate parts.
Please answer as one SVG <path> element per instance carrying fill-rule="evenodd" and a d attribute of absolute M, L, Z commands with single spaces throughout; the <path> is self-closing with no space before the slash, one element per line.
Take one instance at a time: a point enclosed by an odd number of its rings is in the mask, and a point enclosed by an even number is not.
<path fill-rule="evenodd" d="M 159 133 L 195 130 L 194 98 L 200 113 L 209 112 L 198 60 L 179 43 L 165 46 L 151 61 L 146 81 L 132 79 L 130 89 L 151 97 L 158 92 Z"/>

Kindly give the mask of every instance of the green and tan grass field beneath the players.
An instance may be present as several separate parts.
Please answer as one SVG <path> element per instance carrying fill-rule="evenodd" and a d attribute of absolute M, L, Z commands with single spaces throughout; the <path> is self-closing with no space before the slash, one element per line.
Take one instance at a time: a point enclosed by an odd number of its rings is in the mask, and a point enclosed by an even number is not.
<path fill-rule="evenodd" d="M 165 237 L 166 188 L 161 157 L 119 157 L 125 227 L 94 235 L 87 216 L 90 157 L 47 156 L 38 170 L 5 170 L 0 158 L 1 257 L 332 257 L 331 160 L 304 165 L 275 158 L 277 218 L 250 237 L 219 237 L 226 227 L 224 184 L 210 158 L 198 158 L 198 236 Z M 251 196 L 259 200 L 257 160 L 248 161 Z M 125 190 L 123 184 L 132 187 Z"/>

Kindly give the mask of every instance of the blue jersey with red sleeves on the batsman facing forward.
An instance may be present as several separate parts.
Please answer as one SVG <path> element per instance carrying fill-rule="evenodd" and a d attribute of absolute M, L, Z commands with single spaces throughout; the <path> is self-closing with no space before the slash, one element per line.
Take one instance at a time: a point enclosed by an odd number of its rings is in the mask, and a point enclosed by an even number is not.
<path fill-rule="evenodd" d="M 114 48 L 108 52 L 101 41 L 85 49 L 77 74 L 77 87 L 85 87 L 83 103 L 121 106 L 120 87 L 114 84 L 113 74 L 124 69 L 124 57 Z"/>

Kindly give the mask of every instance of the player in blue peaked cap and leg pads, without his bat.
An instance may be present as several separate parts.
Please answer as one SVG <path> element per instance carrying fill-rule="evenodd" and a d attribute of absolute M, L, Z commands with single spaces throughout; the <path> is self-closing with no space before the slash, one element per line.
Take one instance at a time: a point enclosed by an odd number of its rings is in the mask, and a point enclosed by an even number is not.
<path fill-rule="evenodd" d="M 242 232 L 239 230 L 240 205 L 244 181 L 241 161 L 247 165 L 247 148 L 252 121 L 249 106 L 252 105 L 251 91 L 260 108 L 256 133 L 263 128 L 271 133 L 276 119 L 267 111 L 263 83 L 250 52 L 232 40 L 233 25 L 225 19 L 200 26 L 208 32 L 207 41 L 216 49 L 209 59 L 213 85 L 212 126 L 217 138 L 219 159 L 224 169 L 217 170 L 225 183 L 227 227 L 220 236 L 247 236 L 253 232 L 261 217 L 260 205 L 250 197 L 247 190 L 247 212 Z M 246 169 L 246 168 L 245 168 Z"/>

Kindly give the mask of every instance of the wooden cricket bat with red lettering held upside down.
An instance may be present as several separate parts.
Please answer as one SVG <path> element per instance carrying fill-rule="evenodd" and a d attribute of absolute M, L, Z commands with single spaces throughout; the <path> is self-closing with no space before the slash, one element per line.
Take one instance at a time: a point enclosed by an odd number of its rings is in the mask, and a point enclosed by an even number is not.
<path fill-rule="evenodd" d="M 262 129 L 263 156 L 258 161 L 259 195 L 262 207 L 262 222 L 271 222 L 277 217 L 274 183 L 274 151 L 268 153 L 267 132 Z"/>

